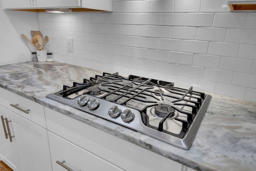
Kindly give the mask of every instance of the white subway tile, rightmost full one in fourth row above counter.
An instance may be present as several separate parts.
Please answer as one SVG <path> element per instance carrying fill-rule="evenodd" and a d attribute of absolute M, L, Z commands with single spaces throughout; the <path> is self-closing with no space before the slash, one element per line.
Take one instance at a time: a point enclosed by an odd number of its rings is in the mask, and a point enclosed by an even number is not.
<path fill-rule="evenodd" d="M 217 56 L 237 57 L 239 44 L 210 42 L 208 54 Z"/>

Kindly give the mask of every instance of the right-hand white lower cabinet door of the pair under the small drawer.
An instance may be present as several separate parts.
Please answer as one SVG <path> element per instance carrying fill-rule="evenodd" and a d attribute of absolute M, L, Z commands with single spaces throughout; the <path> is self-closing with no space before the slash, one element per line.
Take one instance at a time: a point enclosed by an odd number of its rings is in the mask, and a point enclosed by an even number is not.
<path fill-rule="evenodd" d="M 12 113 L 24 171 L 51 171 L 47 130 Z"/>

